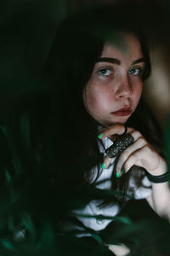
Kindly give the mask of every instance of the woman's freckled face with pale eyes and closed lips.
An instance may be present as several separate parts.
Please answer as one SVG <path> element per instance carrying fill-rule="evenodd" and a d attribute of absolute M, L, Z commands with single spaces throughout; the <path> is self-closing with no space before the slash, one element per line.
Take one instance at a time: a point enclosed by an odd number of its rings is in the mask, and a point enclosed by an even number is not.
<path fill-rule="evenodd" d="M 83 90 L 88 113 L 101 125 L 124 124 L 139 103 L 144 55 L 139 40 L 128 34 L 122 44 L 106 43 Z"/>

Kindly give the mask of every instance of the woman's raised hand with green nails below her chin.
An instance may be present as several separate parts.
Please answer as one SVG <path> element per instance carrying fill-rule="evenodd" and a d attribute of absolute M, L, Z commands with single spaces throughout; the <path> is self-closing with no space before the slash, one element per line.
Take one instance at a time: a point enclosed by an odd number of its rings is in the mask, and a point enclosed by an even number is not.
<path fill-rule="evenodd" d="M 109 137 L 112 141 L 116 139 L 117 135 L 122 135 L 125 131 L 124 125 L 116 124 L 105 128 L 102 131 L 103 136 Z M 127 147 L 119 156 L 119 160 L 116 165 L 117 177 L 122 176 L 122 167 L 124 172 L 128 172 L 132 166 L 144 167 L 151 175 L 161 175 L 167 172 L 167 166 L 165 160 L 157 154 L 155 148 L 142 136 L 139 131 L 135 131 L 133 128 L 127 128 L 127 133 L 130 133 L 134 138 L 134 143 Z M 111 158 L 106 155 L 104 159 L 105 168 L 111 163 Z"/>

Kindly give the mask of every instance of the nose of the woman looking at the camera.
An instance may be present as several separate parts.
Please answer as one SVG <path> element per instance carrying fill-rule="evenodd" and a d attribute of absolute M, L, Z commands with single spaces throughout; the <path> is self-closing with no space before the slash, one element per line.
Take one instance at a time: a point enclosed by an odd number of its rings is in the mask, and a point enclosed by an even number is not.
<path fill-rule="evenodd" d="M 133 95 L 133 87 L 132 82 L 127 76 L 126 78 L 119 81 L 117 88 L 116 88 L 116 97 L 130 97 Z"/>

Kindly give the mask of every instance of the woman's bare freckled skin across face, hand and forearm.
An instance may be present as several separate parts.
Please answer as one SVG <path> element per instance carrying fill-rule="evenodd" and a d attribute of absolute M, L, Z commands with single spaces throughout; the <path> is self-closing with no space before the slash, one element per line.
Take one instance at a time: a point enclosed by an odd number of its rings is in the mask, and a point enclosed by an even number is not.
<path fill-rule="evenodd" d="M 124 43 L 127 47 L 123 49 Z M 91 78 L 82 94 L 88 113 L 99 124 L 105 126 L 100 139 L 111 138 L 115 134 L 121 135 L 124 132 L 123 124 L 137 107 L 142 94 L 144 61 L 139 60 L 144 56 L 139 41 L 129 34 L 124 36 L 122 45 L 113 43 L 104 45 L 100 58 L 112 58 L 112 60 L 114 58 L 116 62 L 107 60 L 106 63 L 104 60 L 101 62 L 100 59 L 95 64 Z M 121 108 L 127 107 L 132 112 L 128 113 L 127 111 L 124 114 L 123 111 L 120 111 Z M 119 110 L 118 113 L 123 114 L 117 114 L 117 110 Z M 127 127 L 127 132 L 132 135 L 134 142 L 120 154 L 116 163 L 116 177 L 122 176 L 122 168 L 126 173 L 132 166 L 140 166 L 152 176 L 164 175 L 167 172 L 167 163 L 157 154 L 155 148 L 139 131 Z M 114 140 L 114 137 L 112 139 Z M 111 160 L 106 155 L 102 169 L 107 168 L 111 164 Z M 151 183 L 151 186 L 152 193 L 146 200 L 157 214 L 170 220 L 170 207 L 167 207 L 170 201 L 169 183 Z"/>

